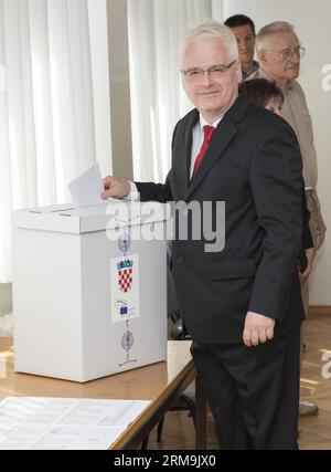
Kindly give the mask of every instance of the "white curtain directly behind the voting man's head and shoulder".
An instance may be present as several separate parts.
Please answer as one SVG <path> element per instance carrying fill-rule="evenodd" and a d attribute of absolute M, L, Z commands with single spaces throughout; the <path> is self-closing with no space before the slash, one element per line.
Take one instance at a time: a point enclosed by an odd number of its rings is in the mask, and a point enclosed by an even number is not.
<path fill-rule="evenodd" d="M 171 135 L 191 105 L 182 92 L 178 42 L 210 18 L 222 0 L 128 0 L 134 177 L 163 181 Z"/>

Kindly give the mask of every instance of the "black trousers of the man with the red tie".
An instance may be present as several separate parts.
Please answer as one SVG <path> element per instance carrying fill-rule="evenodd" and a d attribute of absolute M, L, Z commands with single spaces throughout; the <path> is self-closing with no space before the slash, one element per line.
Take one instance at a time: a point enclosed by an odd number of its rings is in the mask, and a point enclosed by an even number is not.
<path fill-rule="evenodd" d="M 297 449 L 299 329 L 247 348 L 193 345 L 223 449 Z"/>

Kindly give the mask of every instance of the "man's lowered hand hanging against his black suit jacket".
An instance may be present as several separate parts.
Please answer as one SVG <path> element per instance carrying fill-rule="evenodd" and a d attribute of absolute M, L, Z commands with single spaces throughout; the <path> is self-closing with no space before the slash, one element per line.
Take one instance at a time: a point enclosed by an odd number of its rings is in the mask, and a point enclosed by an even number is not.
<path fill-rule="evenodd" d="M 243 339 L 247 347 L 266 343 L 274 337 L 275 319 L 258 313 L 248 312 L 246 315 Z"/>

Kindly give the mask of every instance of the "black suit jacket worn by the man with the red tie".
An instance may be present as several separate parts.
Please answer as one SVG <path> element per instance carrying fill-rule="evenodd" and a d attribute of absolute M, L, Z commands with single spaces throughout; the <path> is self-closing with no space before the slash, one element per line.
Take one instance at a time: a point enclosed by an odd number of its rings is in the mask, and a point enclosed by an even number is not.
<path fill-rule="evenodd" d="M 166 183 L 137 183 L 141 200 L 225 201 L 225 248 L 173 242 L 180 312 L 193 339 L 241 343 L 247 311 L 276 318 L 276 335 L 303 318 L 296 262 L 302 242 L 302 162 L 291 127 L 239 96 L 190 182 L 196 109 L 175 126 Z M 215 214 L 213 214 L 215 217 Z"/>

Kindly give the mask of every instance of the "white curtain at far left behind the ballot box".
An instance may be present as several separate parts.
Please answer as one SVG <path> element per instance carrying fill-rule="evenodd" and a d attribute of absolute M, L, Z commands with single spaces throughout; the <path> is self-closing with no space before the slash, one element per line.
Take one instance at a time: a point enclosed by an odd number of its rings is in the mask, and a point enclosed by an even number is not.
<path fill-rule="evenodd" d="M 106 18 L 105 0 L 94 1 Z M 105 156 L 111 167 L 110 124 L 95 128 L 103 82 L 92 73 L 89 8 L 88 0 L 0 0 L 0 283 L 11 280 L 12 210 L 68 201 L 77 174 L 96 159 L 106 171 Z"/>

